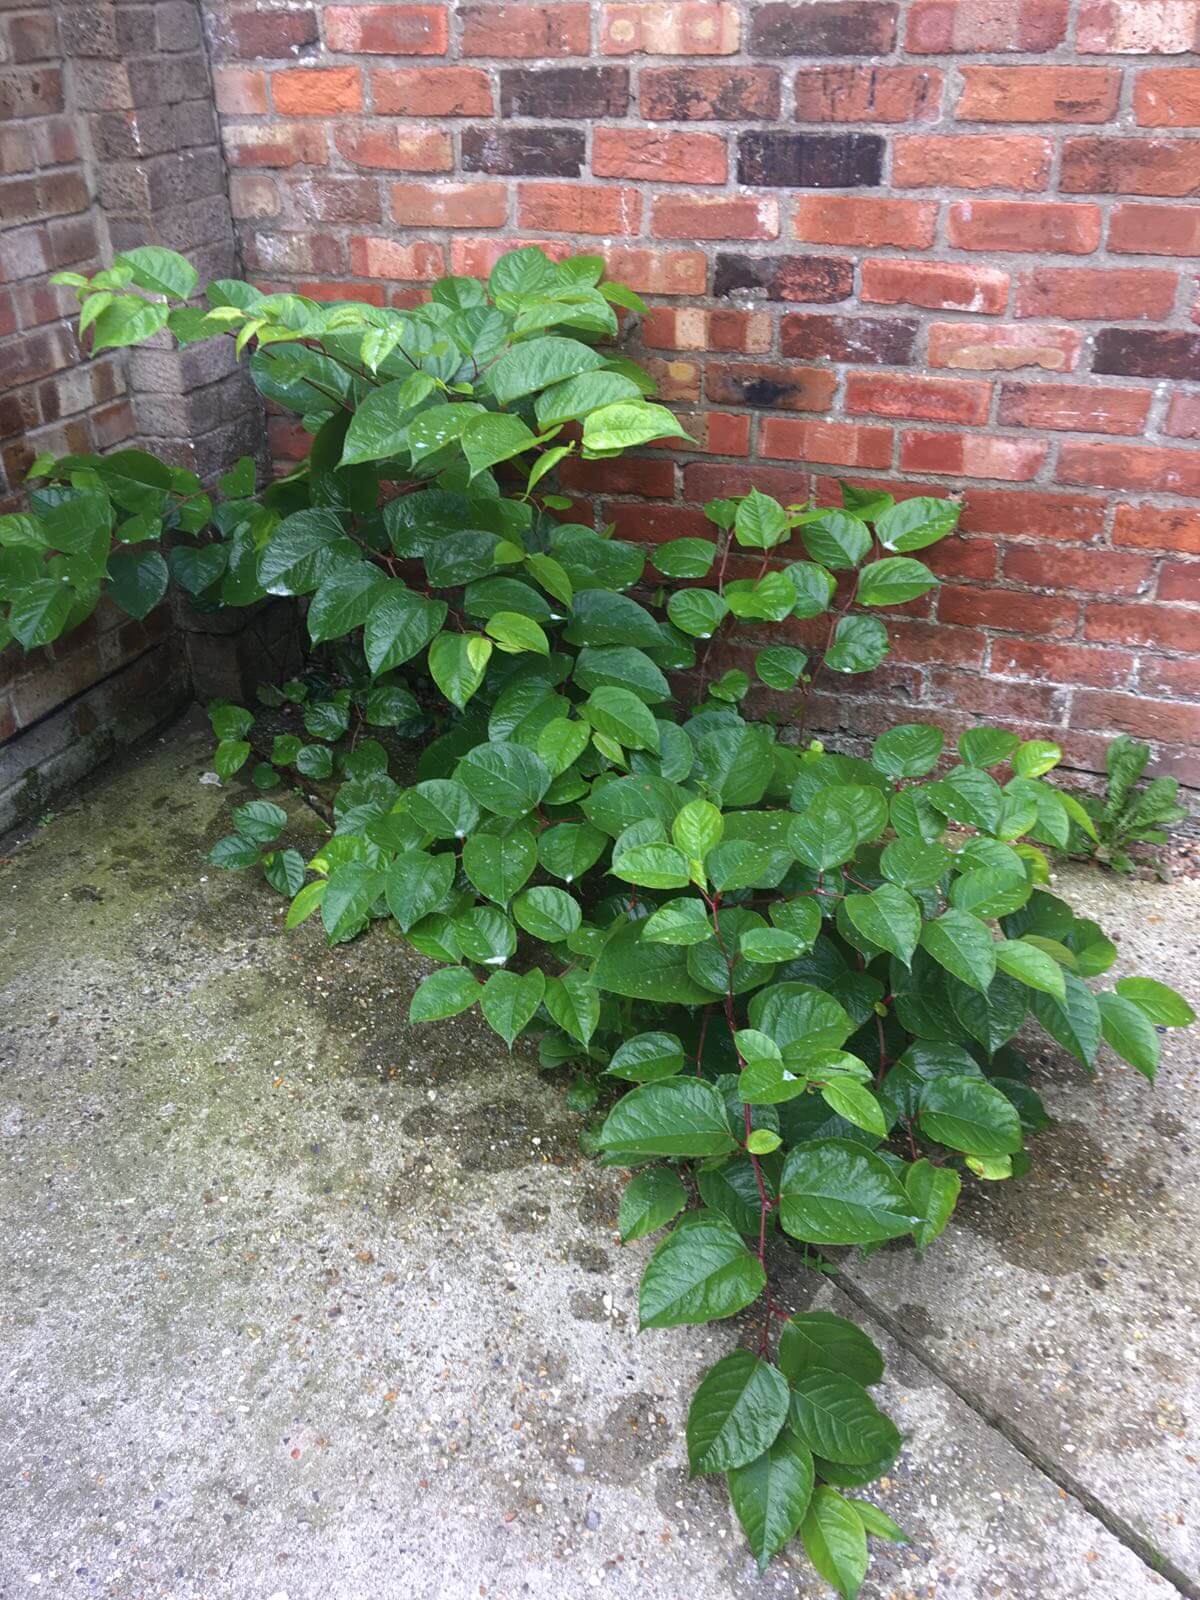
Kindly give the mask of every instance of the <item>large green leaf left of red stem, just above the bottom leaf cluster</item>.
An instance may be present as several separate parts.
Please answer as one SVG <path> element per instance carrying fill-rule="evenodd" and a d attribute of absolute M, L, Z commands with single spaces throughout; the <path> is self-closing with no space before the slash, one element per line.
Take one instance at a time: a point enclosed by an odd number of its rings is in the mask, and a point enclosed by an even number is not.
<path fill-rule="evenodd" d="M 638 1291 L 638 1320 L 643 1328 L 678 1328 L 733 1317 L 765 1285 L 762 1262 L 738 1229 L 714 1211 L 694 1211 L 650 1258 Z"/>

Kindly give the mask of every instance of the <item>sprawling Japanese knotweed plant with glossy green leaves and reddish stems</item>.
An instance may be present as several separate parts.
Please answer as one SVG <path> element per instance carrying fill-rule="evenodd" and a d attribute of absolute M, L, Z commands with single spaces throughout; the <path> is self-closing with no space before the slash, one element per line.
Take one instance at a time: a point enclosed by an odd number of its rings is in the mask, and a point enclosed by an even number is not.
<path fill-rule="evenodd" d="M 955 504 L 752 491 L 650 549 L 570 520 L 558 462 L 680 435 L 606 342 L 640 302 L 600 275 L 518 250 L 403 312 L 245 283 L 171 309 L 195 275 L 160 250 L 67 280 L 98 347 L 232 334 L 312 448 L 262 494 L 238 466 L 219 504 L 138 451 L 38 461 L 29 515 L 0 520 L 3 626 L 46 643 L 101 590 L 142 614 L 171 573 L 202 606 L 302 598 L 315 656 L 264 696 L 274 738 L 214 706 L 214 760 L 261 790 L 294 774 L 330 835 L 306 861 L 251 798 L 211 859 L 259 867 L 291 925 L 382 922 L 437 963 L 414 1022 L 477 1008 L 574 1072 L 586 1147 L 632 1174 L 622 1238 L 661 1235 L 642 1325 L 741 1317 L 691 1403 L 693 1472 L 726 1477 L 760 1563 L 798 1534 L 851 1597 L 867 1536 L 902 1538 L 856 1493 L 901 1450 L 883 1360 L 837 1315 L 789 1315 L 771 1267 L 925 1250 L 965 1178 L 1022 1174 L 1048 1122 L 1027 1022 L 1154 1077 L 1192 1013 L 1150 978 L 1093 990 L 1115 950 L 1051 888 L 1046 848 L 1093 832 L 1054 746 L 779 738 L 819 672 L 878 666 L 880 613 L 934 586 L 915 552 Z"/>

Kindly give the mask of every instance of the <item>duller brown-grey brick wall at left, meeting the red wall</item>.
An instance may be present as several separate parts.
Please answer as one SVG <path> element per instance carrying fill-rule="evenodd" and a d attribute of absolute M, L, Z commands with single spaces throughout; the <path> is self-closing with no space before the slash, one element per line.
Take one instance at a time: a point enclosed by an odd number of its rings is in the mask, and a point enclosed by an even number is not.
<path fill-rule="evenodd" d="M 0 512 L 38 451 L 146 443 L 210 474 L 261 427 L 226 350 L 85 358 L 75 296 L 138 243 L 237 270 L 224 160 L 195 0 L 0 5 Z M 186 698 L 166 606 L 134 622 L 107 602 L 26 656 L 0 653 L 0 830 Z"/>

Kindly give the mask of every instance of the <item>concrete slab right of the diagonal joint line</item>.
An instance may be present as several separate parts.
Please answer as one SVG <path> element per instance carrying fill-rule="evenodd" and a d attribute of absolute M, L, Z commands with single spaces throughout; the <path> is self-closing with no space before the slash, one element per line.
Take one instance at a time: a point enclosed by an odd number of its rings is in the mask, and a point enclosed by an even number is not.
<path fill-rule="evenodd" d="M 1115 939 L 1114 976 L 1200 1011 L 1200 878 L 1094 869 L 1058 891 Z M 862 1302 L 1187 1594 L 1200 1594 L 1200 1043 L 1170 1030 L 1150 1086 L 1101 1046 L 1093 1078 L 1043 1035 L 1054 1126 L 1021 1182 L 970 1184 L 923 1261 L 846 1264 Z"/>

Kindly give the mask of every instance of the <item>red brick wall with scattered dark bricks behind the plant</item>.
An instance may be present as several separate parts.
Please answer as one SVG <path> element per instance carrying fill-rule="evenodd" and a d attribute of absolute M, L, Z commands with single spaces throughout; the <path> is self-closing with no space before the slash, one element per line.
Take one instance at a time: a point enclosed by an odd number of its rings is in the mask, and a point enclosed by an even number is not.
<path fill-rule="evenodd" d="M 603 251 L 701 448 L 573 485 L 693 531 L 749 483 L 963 496 L 818 723 L 974 715 L 1200 782 L 1200 0 L 208 0 L 243 256 L 410 304 Z M 277 448 L 290 443 L 280 426 Z"/>

